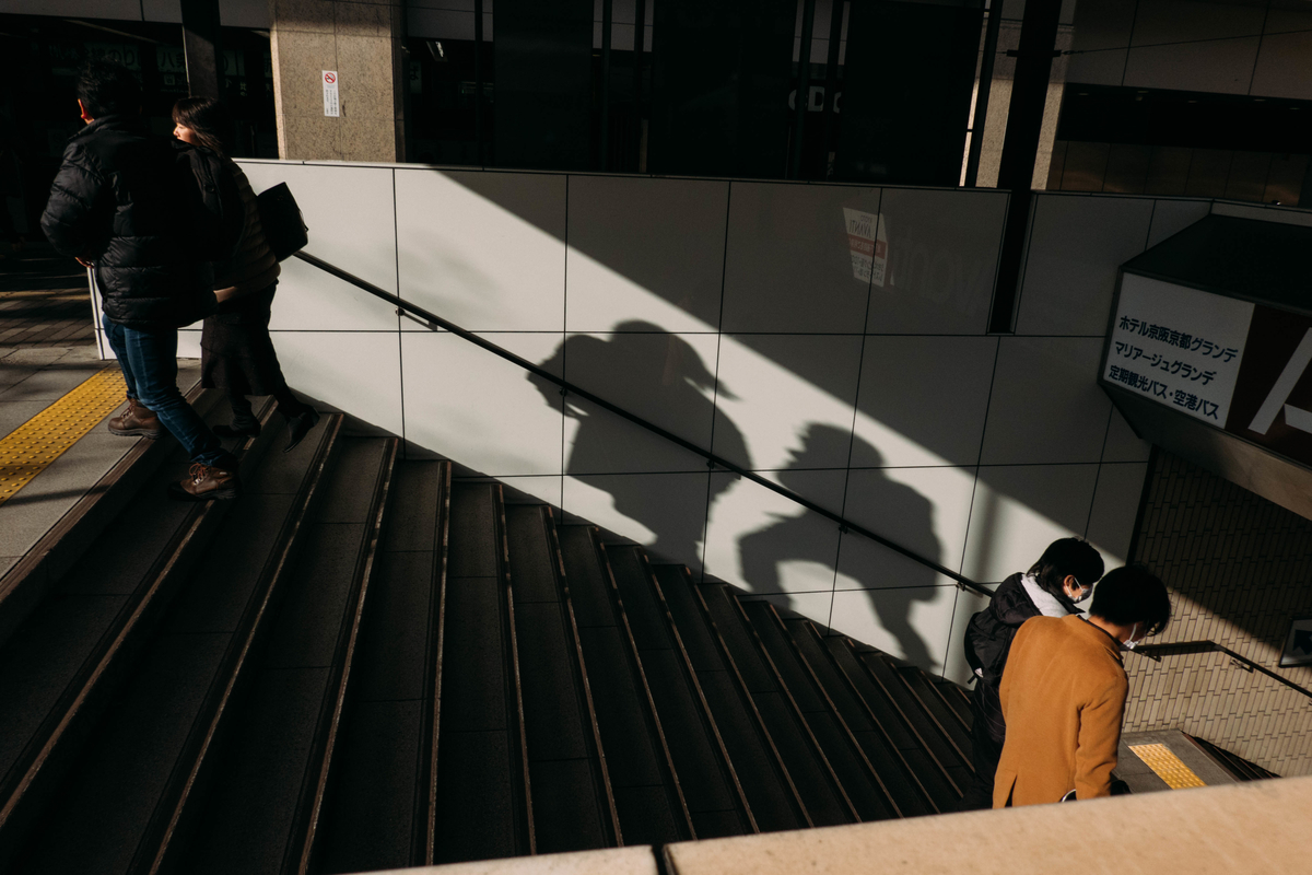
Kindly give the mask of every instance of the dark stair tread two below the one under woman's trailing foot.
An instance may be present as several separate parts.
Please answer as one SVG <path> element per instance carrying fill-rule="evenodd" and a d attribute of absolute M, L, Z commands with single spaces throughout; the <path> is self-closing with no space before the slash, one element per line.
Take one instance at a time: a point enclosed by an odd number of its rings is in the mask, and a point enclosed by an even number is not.
<path fill-rule="evenodd" d="M 434 691 L 450 488 L 447 462 L 396 464 L 318 871 L 433 862 Z"/>

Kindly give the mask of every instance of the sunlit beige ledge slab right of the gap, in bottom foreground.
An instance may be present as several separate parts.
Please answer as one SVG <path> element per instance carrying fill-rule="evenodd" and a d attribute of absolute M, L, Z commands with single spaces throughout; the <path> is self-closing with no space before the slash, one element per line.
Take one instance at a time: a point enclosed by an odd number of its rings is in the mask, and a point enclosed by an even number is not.
<path fill-rule="evenodd" d="M 677 875 L 1302 872 L 1312 778 L 666 845 Z"/>

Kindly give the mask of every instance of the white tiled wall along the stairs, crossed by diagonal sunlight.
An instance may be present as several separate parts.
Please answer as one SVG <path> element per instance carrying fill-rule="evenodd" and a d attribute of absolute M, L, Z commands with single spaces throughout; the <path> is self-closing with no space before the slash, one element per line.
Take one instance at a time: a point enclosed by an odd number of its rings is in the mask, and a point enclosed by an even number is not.
<path fill-rule="evenodd" d="M 311 253 L 981 582 L 1071 534 L 1124 561 L 1148 447 L 1096 386 L 1117 265 L 1211 206 L 1038 194 L 1018 333 L 996 337 L 1005 194 L 247 168 L 257 189 L 291 185 Z M 845 207 L 884 214 L 882 287 L 854 275 Z M 956 639 L 977 600 L 949 579 L 285 268 L 274 342 L 295 388 L 565 519 L 964 677 Z"/>

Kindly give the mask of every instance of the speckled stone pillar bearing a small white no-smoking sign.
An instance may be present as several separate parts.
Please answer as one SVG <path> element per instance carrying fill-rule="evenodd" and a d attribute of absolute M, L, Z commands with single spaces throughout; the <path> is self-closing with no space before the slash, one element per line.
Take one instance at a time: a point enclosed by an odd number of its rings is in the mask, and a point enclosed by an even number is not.
<path fill-rule="evenodd" d="M 403 0 L 269 0 L 278 156 L 404 160 Z M 341 115 L 324 115 L 323 71 Z"/>

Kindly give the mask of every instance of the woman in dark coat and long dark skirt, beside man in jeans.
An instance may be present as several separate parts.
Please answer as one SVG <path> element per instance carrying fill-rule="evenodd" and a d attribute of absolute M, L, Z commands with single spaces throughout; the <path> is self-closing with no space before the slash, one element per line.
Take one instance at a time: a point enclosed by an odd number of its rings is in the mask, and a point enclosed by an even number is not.
<path fill-rule="evenodd" d="M 226 134 L 231 129 L 223 105 L 211 97 L 184 97 L 173 105 L 173 135 L 227 157 Z M 287 417 L 290 451 L 319 421 L 319 413 L 302 403 L 282 376 L 278 354 L 269 337 L 269 315 L 278 285 L 277 258 L 260 226 L 260 209 L 245 173 L 234 161 L 226 167 L 236 180 L 245 207 L 245 235 L 237 252 L 214 270 L 218 310 L 205 319 L 201 333 L 201 386 L 222 388 L 232 405 L 232 425 L 215 426 L 219 437 L 255 437 L 260 420 L 247 395 L 273 395 L 278 412 Z"/>

